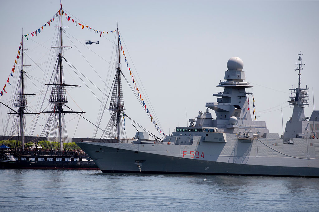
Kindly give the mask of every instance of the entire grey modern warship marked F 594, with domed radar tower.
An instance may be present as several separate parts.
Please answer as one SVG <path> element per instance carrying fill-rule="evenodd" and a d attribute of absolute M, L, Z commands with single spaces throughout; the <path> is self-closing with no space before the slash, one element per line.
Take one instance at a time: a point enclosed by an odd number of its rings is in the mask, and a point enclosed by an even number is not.
<path fill-rule="evenodd" d="M 291 88 L 293 114 L 284 135 L 270 133 L 264 121 L 253 120 L 245 88 L 243 62 L 227 62 L 224 82 L 206 103 L 206 113 L 176 127 L 161 140 L 137 132 L 135 140 L 77 143 L 104 173 L 179 173 L 319 177 L 319 111 L 305 116 L 308 88 L 300 87 L 301 54 L 296 70 L 298 88 Z M 299 65 L 299 67 L 298 67 Z M 214 110 L 216 118 L 209 109 Z M 195 122 L 196 121 L 196 122 Z M 195 122 L 195 124 L 194 124 Z"/>

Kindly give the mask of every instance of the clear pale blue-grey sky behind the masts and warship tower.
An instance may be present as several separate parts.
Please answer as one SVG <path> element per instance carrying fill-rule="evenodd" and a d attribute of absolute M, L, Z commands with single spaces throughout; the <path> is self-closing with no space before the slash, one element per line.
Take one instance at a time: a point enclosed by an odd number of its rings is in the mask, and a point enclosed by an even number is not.
<path fill-rule="evenodd" d="M 55 16 L 60 1 L 1 1 L 0 83 L 5 84 L 10 75 L 22 35 L 33 32 Z M 148 96 L 146 105 L 166 134 L 176 126 L 186 126 L 187 120 L 195 118 L 198 111 L 206 111 L 206 102 L 216 102 L 213 93 L 219 80 L 224 80 L 229 58 L 237 56 L 244 62 L 246 81 L 254 85 L 248 92 L 254 93 L 258 120 L 266 121 L 270 132 L 282 133 L 281 110 L 284 127 L 292 115 L 292 108 L 285 102 L 289 99 L 291 85 L 298 86 L 298 73 L 294 71 L 298 53 L 301 51 L 306 62 L 301 76 L 301 85 L 308 85 L 309 108 L 306 116 L 318 109 L 319 58 L 319 2 L 318 1 L 63 1 L 63 10 L 81 24 L 99 31 L 116 29 L 121 33 L 124 51 L 133 75 L 144 86 L 142 94 Z M 53 22 L 55 25 L 57 21 Z M 81 29 L 63 17 L 63 25 L 69 26 L 64 35 L 65 45 L 75 46 L 64 52 L 64 57 L 83 73 L 94 85 L 104 89 L 107 76 L 115 69 L 109 64 L 113 51 L 114 34 L 100 34 Z M 38 34 L 25 40 L 28 97 L 31 111 L 36 111 L 43 96 L 39 93 L 40 82 L 52 74 L 55 56 L 50 47 L 55 44 L 56 29 L 51 24 Z M 86 46 L 86 40 L 100 44 Z M 53 61 L 49 62 L 48 61 Z M 130 81 L 126 65 L 122 65 L 124 76 Z M 81 85 L 68 89 L 68 105 L 74 110 L 85 111 L 85 117 L 96 122 L 102 93 L 87 79 L 76 76 L 64 66 L 65 81 Z M 15 73 L 17 74 L 17 73 Z M 139 76 L 139 79 L 137 77 Z M 18 76 L 18 75 L 15 75 Z M 101 79 L 100 79 L 100 77 Z M 6 85 L 1 101 L 8 103 L 17 83 Z M 103 79 L 103 80 L 102 80 Z M 45 81 L 47 83 L 47 81 Z M 126 114 L 139 124 L 156 133 L 144 109 L 139 104 L 129 85 L 122 80 Z M 130 84 L 131 86 L 132 84 Z M 40 98 L 40 100 L 39 100 Z M 47 105 L 47 101 L 44 105 Z M 7 109 L 1 107 L 1 126 L 8 119 Z M 215 113 L 213 113 L 213 117 Z M 262 113 L 259 113 L 262 112 Z M 44 122 L 41 114 L 39 122 Z M 75 115 L 66 115 L 69 137 L 92 137 L 94 127 Z M 106 113 L 102 127 L 108 122 Z M 30 117 L 27 127 L 34 128 Z M 44 123 L 43 123 L 44 125 Z M 129 120 L 125 122 L 128 137 L 135 135 Z M 29 128 L 28 128 L 29 129 Z M 0 128 L 0 134 L 5 131 Z M 40 133 L 35 125 L 33 135 Z"/>

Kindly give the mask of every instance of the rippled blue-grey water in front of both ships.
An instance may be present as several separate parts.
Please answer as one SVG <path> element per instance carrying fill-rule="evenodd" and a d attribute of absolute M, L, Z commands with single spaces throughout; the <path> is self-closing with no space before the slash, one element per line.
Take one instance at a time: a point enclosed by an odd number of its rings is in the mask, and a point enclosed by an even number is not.
<path fill-rule="evenodd" d="M 0 211 L 319 211 L 319 178 L 0 169 Z"/>

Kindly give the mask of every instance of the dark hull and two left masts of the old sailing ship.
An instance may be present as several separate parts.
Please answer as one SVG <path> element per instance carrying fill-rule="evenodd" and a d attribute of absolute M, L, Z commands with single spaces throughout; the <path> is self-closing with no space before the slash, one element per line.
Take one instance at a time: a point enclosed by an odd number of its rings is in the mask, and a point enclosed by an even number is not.
<path fill-rule="evenodd" d="M 59 14 L 63 14 L 62 4 Z M 58 17 L 56 15 L 56 17 Z M 58 36 L 56 45 L 51 47 L 56 50 L 56 62 L 52 77 L 48 84 L 50 95 L 48 98 L 48 106 L 38 113 L 28 110 L 27 96 L 34 95 L 26 92 L 26 67 L 24 41 L 26 35 L 22 35 L 19 46 L 19 55 L 21 56 L 19 62 L 16 60 L 16 71 L 19 71 L 19 80 L 16 91 L 14 93 L 12 106 L 1 104 L 8 107 L 11 115 L 14 115 L 12 127 L 7 130 L 8 135 L 0 136 L 2 140 L 8 140 L 11 148 L 0 148 L 1 162 L 4 164 L 3 168 L 46 168 L 46 169 L 98 169 L 91 158 L 80 149 L 73 149 L 70 146 L 70 139 L 67 136 L 66 123 L 64 115 L 66 113 L 74 113 L 81 115 L 85 112 L 74 111 L 67 106 L 67 91 L 66 87 L 78 87 L 79 85 L 70 85 L 65 83 L 63 73 L 64 58 L 63 51 L 70 46 L 63 45 L 63 31 L 65 26 L 62 25 L 62 16 L 59 16 L 59 25 L 56 26 Z M 52 19 L 51 19 L 52 22 Z M 43 30 L 43 27 L 42 27 Z M 40 29 L 39 29 L 40 33 Z M 17 56 L 19 58 L 19 56 Z M 15 68 L 15 66 L 14 66 Z M 14 69 L 12 69 L 14 72 Z M 12 73 L 11 73 L 12 76 Z M 9 82 L 9 79 L 8 81 Z M 1 92 L 2 96 L 2 92 Z M 68 108 L 67 110 L 65 108 Z M 39 115 L 46 113 L 48 119 L 43 127 L 38 122 L 39 116 L 35 116 L 35 124 L 41 126 L 41 134 L 37 137 L 26 136 L 26 115 Z M 10 132 L 9 132 L 10 131 Z M 30 131 L 30 129 L 29 129 Z M 30 132 L 29 132 L 30 133 Z M 9 135 L 11 134 L 11 135 Z"/>

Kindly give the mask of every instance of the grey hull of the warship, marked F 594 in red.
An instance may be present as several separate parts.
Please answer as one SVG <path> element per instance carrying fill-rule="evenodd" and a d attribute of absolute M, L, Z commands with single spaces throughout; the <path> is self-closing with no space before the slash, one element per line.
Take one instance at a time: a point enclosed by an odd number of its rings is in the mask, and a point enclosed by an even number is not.
<path fill-rule="evenodd" d="M 241 142 L 229 138 L 227 141 L 223 144 L 199 141 L 199 144 L 189 146 L 97 142 L 77 144 L 104 173 L 319 177 L 318 159 L 310 156 L 314 156 L 315 148 L 309 154 L 306 151 L 293 156 L 289 155 L 293 154 L 293 145 L 285 145 L 290 149 L 288 151 L 283 144 L 278 145 L 276 140 Z M 272 143 L 277 143 L 278 148 L 272 148 Z"/>

